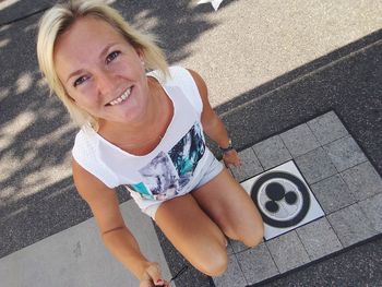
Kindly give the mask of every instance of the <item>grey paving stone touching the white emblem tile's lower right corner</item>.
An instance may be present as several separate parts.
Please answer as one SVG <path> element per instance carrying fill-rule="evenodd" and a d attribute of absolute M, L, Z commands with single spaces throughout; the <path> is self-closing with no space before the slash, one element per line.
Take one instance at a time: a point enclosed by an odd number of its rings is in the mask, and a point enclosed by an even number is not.
<path fill-rule="evenodd" d="M 296 229 L 309 258 L 317 260 L 343 248 L 325 217 Z"/>

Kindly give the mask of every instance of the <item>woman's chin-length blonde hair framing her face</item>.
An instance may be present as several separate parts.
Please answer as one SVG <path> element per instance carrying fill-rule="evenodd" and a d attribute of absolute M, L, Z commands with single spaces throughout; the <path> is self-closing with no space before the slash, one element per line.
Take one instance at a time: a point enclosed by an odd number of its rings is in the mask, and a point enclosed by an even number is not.
<path fill-rule="evenodd" d="M 37 36 L 37 58 L 43 75 L 48 82 L 50 94 L 56 95 L 67 107 L 72 119 L 79 124 L 89 124 L 95 130 L 98 129 L 98 121 L 95 117 L 77 107 L 67 94 L 59 80 L 53 62 L 53 51 L 56 40 L 68 31 L 73 23 L 83 16 L 94 16 L 109 23 L 120 33 L 130 45 L 139 49 L 148 70 L 158 70 L 164 81 L 169 75 L 168 65 L 164 52 L 155 44 L 154 37 L 143 35 L 131 27 L 119 12 L 106 3 L 95 0 L 69 0 L 56 4 L 48 10 L 39 22 Z"/>

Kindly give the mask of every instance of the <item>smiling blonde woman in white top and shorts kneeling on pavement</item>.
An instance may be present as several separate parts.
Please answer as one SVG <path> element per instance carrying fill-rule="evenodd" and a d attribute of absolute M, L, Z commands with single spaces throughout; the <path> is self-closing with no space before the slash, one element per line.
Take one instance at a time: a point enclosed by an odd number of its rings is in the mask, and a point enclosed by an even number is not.
<path fill-rule="evenodd" d="M 226 237 L 249 247 L 261 241 L 250 196 L 205 145 L 203 132 L 222 147 L 226 165 L 239 165 L 196 72 L 168 68 L 150 37 L 97 1 L 47 11 L 37 53 L 52 92 L 81 127 L 72 151 L 76 189 L 106 247 L 141 287 L 168 283 L 126 227 L 118 186 L 207 275 L 227 267 Z"/>

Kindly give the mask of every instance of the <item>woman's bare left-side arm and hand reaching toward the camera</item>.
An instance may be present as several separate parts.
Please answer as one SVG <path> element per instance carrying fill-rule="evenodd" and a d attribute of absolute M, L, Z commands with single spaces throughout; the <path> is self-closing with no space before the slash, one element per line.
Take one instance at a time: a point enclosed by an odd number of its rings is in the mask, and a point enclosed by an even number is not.
<path fill-rule="evenodd" d="M 74 159 L 72 169 L 75 187 L 89 205 L 107 249 L 140 280 L 145 276 L 147 268 L 155 273 L 156 263 L 144 258 L 135 238 L 124 225 L 116 191 L 107 188 Z M 160 273 L 151 277 L 159 279 Z"/>

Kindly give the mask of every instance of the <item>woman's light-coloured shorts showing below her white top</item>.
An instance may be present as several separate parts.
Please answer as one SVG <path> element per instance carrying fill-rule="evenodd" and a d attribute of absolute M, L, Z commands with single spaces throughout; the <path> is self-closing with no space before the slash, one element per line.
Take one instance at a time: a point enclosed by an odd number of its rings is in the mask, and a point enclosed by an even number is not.
<path fill-rule="evenodd" d="M 204 186 L 205 183 L 211 181 L 213 178 L 215 178 L 218 174 L 220 174 L 222 170 L 224 169 L 224 165 L 220 162 L 218 162 L 215 156 L 211 156 L 206 165 L 210 165 L 210 167 L 204 174 L 204 176 L 201 178 L 201 180 L 193 188 L 191 188 L 189 192 L 182 193 L 181 195 L 188 194 L 191 191 Z M 164 203 L 164 201 L 158 202 L 156 204 L 152 204 L 147 208 L 145 208 L 143 212 L 155 220 L 155 213 L 162 203 Z"/>

